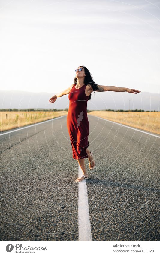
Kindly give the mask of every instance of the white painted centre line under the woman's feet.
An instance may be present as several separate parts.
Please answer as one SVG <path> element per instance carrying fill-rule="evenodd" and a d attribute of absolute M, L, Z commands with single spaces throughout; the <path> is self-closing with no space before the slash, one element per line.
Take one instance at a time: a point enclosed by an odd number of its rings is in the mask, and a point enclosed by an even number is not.
<path fill-rule="evenodd" d="M 78 164 L 78 176 L 83 174 Z M 78 182 L 78 231 L 79 241 L 92 241 L 86 180 Z"/>

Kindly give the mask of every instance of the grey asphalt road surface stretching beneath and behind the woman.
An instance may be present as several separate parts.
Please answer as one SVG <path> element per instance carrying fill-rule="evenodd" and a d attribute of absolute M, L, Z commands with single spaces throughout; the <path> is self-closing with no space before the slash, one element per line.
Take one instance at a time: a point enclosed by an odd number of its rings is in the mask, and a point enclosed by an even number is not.
<path fill-rule="evenodd" d="M 160 138 L 88 118 L 92 241 L 159 241 Z M 1 241 L 78 241 L 78 162 L 66 116 L 0 140 Z"/>

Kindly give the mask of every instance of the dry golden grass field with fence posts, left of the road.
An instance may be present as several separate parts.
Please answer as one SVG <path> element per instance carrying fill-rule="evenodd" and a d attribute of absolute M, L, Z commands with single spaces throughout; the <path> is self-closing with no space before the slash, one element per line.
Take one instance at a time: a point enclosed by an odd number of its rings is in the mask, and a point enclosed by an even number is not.
<path fill-rule="evenodd" d="M 67 113 L 67 111 L 2 111 L 0 118 L 0 131 L 8 131 L 25 125 L 35 124 L 62 115 L 67 115 Z"/>

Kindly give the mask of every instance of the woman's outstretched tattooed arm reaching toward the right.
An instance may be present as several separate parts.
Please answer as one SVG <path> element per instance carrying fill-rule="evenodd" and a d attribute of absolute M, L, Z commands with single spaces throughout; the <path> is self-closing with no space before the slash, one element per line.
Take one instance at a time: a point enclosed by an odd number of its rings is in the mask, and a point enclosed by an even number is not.
<path fill-rule="evenodd" d="M 113 92 L 128 92 L 128 93 L 140 93 L 140 91 L 136 89 L 129 89 L 125 87 L 117 87 L 117 86 L 106 86 L 106 85 L 98 85 L 97 92 L 107 92 L 107 91 L 113 91 Z"/>

